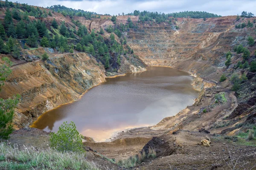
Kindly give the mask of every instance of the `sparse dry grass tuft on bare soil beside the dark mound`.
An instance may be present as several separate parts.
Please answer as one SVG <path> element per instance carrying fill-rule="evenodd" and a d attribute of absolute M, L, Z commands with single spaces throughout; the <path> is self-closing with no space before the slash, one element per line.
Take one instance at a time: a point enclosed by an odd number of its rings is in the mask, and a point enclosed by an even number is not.
<path fill-rule="evenodd" d="M 154 159 L 156 157 L 157 157 L 156 151 L 152 147 L 150 147 L 148 148 L 148 154 L 146 154 L 145 151 L 143 150 L 143 152 L 139 153 L 138 155 L 130 156 L 128 159 L 121 159 L 117 161 L 116 164 L 119 165 L 120 167 L 130 168 L 130 167 L 135 167 L 137 164 L 141 164 L 146 159 L 149 159 L 149 158 Z"/>

